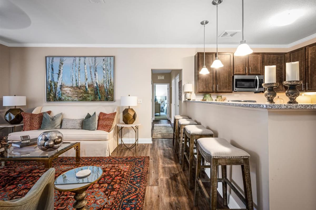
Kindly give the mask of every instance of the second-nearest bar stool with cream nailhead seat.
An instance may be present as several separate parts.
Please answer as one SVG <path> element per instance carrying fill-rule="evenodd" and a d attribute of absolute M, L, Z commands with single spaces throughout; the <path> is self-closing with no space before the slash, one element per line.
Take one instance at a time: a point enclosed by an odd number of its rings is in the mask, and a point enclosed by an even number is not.
<path fill-rule="evenodd" d="M 197 153 L 194 153 L 195 140 L 204 137 L 213 137 L 213 131 L 206 129 L 203 125 L 186 125 L 185 127 L 185 137 L 184 137 L 184 146 L 181 151 L 182 160 L 188 161 L 189 164 L 189 189 L 192 189 L 193 186 L 193 156 Z M 189 147 L 187 146 L 187 141 L 189 139 Z M 189 149 L 189 152 L 187 152 Z M 202 163 L 204 160 L 202 160 Z M 182 170 L 185 170 L 185 162 L 183 162 Z"/>

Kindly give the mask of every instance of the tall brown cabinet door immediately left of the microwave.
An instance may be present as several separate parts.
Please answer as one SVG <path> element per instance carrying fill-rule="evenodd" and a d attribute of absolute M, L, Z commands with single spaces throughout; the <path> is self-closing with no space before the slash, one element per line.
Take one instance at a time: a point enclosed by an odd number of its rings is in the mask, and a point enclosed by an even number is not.
<path fill-rule="evenodd" d="M 216 69 L 216 92 L 231 93 L 233 91 L 233 53 L 218 53 L 224 65 Z"/>

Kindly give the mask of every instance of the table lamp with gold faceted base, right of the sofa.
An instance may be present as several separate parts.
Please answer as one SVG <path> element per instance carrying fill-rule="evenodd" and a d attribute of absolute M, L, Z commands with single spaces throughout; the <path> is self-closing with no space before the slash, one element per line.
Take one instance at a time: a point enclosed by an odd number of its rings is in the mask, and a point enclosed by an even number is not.
<path fill-rule="evenodd" d="M 130 106 L 137 106 L 137 96 L 121 96 L 121 106 L 128 106 L 128 108 L 123 111 L 123 122 L 125 124 L 133 124 L 137 115 Z"/>

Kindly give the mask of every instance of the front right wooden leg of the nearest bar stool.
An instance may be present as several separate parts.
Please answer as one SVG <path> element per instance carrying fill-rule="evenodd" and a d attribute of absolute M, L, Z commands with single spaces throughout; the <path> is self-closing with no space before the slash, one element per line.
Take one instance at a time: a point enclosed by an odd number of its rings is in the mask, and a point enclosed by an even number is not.
<path fill-rule="evenodd" d="M 250 168 L 249 168 L 248 158 L 244 158 L 244 165 L 241 165 L 241 172 L 242 172 L 242 180 L 244 182 L 246 208 L 248 210 L 253 210 Z"/>

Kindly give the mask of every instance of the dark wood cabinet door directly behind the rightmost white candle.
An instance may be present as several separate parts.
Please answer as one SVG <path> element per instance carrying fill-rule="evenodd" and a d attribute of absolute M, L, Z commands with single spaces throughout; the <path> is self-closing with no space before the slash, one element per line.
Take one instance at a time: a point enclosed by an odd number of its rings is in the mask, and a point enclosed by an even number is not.
<path fill-rule="evenodd" d="M 306 91 L 306 79 L 305 79 L 305 47 L 302 47 L 300 49 L 294 50 L 290 52 L 290 61 L 291 62 L 299 62 L 299 68 L 300 68 L 300 80 L 303 81 L 303 84 L 300 86 L 297 86 L 297 89 L 299 91 Z M 286 80 L 286 78 L 285 78 Z"/>

